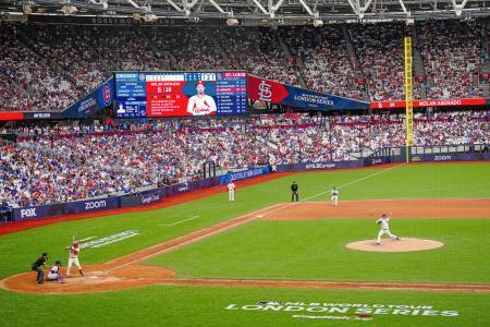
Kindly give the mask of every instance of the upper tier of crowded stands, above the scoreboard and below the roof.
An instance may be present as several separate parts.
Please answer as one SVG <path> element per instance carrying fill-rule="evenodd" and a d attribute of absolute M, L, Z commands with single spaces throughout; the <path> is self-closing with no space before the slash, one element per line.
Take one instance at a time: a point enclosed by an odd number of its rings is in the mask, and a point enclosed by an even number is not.
<path fill-rule="evenodd" d="M 480 74 L 489 62 L 488 19 L 277 31 L 0 23 L 0 111 L 64 109 L 122 70 L 244 69 L 332 95 L 401 100 L 406 34 L 419 59 L 415 98 L 489 96 Z"/>

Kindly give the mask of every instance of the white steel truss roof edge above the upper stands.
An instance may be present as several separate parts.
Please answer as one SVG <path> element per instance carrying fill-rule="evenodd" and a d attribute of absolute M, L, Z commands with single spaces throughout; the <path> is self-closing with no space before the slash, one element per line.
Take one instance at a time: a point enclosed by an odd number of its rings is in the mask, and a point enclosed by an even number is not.
<path fill-rule="evenodd" d="M 199 22 L 228 20 L 230 25 L 290 25 L 317 21 L 390 21 L 461 17 L 490 14 L 481 0 L 0 0 L 1 16 L 21 21 L 27 15 L 133 17 L 145 22 L 175 19 Z M 238 20 L 238 21 L 236 21 Z M 321 22 L 320 22 L 321 21 Z"/>

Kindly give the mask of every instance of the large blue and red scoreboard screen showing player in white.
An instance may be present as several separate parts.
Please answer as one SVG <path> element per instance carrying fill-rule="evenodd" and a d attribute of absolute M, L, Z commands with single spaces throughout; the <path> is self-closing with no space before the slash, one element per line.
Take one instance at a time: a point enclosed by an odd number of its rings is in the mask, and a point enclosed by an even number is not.
<path fill-rule="evenodd" d="M 226 72 L 115 73 L 118 118 L 247 113 L 247 74 Z"/>

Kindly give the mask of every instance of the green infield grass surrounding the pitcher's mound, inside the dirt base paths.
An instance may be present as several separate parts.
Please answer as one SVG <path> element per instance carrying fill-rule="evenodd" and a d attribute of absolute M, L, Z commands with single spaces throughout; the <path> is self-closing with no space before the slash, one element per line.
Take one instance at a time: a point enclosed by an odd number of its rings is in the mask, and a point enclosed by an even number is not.
<path fill-rule="evenodd" d="M 431 251 L 345 247 L 376 239 L 378 229 L 372 219 L 255 221 L 147 263 L 174 269 L 181 278 L 490 283 L 490 219 L 392 220 L 392 231 L 402 238 L 445 244 Z"/>

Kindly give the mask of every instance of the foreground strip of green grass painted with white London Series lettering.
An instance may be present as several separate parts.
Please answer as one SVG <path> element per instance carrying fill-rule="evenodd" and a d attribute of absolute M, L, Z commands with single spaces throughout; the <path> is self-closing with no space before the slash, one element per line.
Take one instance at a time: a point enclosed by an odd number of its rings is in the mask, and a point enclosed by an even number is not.
<path fill-rule="evenodd" d="M 2 326 L 444 326 L 486 327 L 490 294 L 259 288 L 148 287 L 81 295 L 27 295 L 0 291 Z M 301 319 L 308 312 L 226 310 L 258 301 L 432 306 L 457 316 L 378 314 L 371 322 Z M 20 314 L 22 313 L 22 314 Z M 353 313 L 353 311 L 350 311 Z M 342 315 L 335 313 L 334 315 Z"/>

